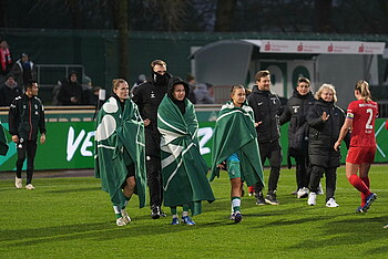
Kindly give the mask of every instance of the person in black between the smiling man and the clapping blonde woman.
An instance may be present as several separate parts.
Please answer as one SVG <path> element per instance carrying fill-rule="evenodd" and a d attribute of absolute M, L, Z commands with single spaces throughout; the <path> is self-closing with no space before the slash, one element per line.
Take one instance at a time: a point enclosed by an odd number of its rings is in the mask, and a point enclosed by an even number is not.
<path fill-rule="evenodd" d="M 308 165 L 308 125 L 306 114 L 314 105 L 314 96 L 310 92 L 310 81 L 299 77 L 293 96 L 288 100 L 286 108 L 280 116 L 280 125 L 289 122 L 288 125 L 288 157 L 287 164 L 290 168 L 290 156 L 296 163 L 297 198 L 308 196 L 309 170 Z"/>

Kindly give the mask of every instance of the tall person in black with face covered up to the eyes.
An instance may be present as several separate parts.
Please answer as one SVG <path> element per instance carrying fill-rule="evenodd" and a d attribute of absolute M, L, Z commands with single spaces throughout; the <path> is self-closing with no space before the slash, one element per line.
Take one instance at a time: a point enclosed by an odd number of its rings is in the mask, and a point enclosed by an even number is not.
<path fill-rule="evenodd" d="M 165 214 L 162 205 L 161 173 L 161 134 L 157 131 L 157 107 L 167 93 L 171 74 L 166 72 L 167 64 L 162 60 L 151 62 L 152 81 L 145 82 L 133 91 L 132 100 L 139 106 L 145 126 L 146 174 L 150 188 L 151 217 L 157 219 Z"/>

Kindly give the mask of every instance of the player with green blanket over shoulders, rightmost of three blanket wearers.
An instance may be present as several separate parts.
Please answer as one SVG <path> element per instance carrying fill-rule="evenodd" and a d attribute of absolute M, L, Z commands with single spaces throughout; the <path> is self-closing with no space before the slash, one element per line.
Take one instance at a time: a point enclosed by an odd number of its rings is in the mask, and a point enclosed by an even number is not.
<path fill-rule="evenodd" d="M 263 167 L 252 107 L 246 103 L 243 85 L 233 85 L 232 102 L 224 104 L 213 133 L 213 167 L 210 180 L 226 169 L 231 178 L 233 214 L 231 219 L 239 222 L 242 183 L 264 186 Z"/>

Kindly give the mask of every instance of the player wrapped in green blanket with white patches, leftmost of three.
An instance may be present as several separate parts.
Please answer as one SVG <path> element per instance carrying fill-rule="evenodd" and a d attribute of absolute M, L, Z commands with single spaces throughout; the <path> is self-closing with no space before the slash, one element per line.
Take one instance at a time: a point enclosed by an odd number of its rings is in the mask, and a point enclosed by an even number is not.
<path fill-rule="evenodd" d="M 129 99 L 125 80 L 113 80 L 113 95 L 102 105 L 95 130 L 95 177 L 109 193 L 116 225 L 131 222 L 125 207 L 132 194 L 145 206 L 144 123 L 136 104 Z"/>

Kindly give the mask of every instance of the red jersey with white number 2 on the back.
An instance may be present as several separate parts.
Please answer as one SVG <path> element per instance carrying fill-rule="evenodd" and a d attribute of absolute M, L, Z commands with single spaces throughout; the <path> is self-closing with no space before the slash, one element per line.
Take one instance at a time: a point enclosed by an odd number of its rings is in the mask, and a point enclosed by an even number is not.
<path fill-rule="evenodd" d="M 358 100 L 349 104 L 346 117 L 353 120 L 350 146 L 376 146 L 375 118 L 377 116 L 376 102 Z"/>

